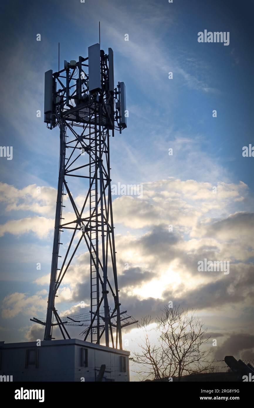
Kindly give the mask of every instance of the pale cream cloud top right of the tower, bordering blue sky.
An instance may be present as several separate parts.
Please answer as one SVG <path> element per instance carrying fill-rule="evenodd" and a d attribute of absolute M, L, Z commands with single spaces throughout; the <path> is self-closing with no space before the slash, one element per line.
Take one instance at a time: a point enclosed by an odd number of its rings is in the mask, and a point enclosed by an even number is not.
<path fill-rule="evenodd" d="M 225 207 L 238 202 L 246 193 L 246 184 L 218 183 L 213 185 L 195 180 L 168 180 L 143 183 L 143 197 L 121 196 L 113 202 L 115 222 L 127 227 L 173 224 L 193 228 L 204 216 L 225 214 Z"/>

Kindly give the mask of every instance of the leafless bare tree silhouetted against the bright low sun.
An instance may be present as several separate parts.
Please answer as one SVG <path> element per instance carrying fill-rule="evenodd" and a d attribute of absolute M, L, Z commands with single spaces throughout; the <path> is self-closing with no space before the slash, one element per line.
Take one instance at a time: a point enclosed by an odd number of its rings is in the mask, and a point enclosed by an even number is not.
<path fill-rule="evenodd" d="M 138 343 L 141 352 L 134 352 L 132 359 L 141 366 L 139 374 L 160 380 L 176 375 L 180 381 L 185 374 L 208 369 L 211 351 L 203 346 L 210 337 L 205 336 L 207 329 L 195 310 L 165 306 L 155 320 L 155 328 L 149 328 L 151 323 L 147 316 L 138 326 L 144 330 L 144 339 Z M 157 333 L 155 341 L 150 339 L 153 330 Z"/>

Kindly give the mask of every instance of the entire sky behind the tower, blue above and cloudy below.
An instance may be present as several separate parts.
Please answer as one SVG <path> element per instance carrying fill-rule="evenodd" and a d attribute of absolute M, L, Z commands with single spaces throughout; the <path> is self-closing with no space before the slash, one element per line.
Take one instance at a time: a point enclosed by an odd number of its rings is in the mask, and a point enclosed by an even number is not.
<path fill-rule="evenodd" d="M 86 57 L 100 21 L 101 49 L 114 51 L 129 111 L 127 129 L 111 140 L 112 183 L 143 187 L 142 196 L 113 200 L 120 302 L 136 319 L 156 317 L 169 301 L 197 309 L 217 339 L 215 358 L 254 359 L 254 157 L 243 157 L 254 146 L 254 2 L 15 0 L 0 8 L 1 146 L 13 147 L 12 160 L 0 157 L 1 339 L 43 335 L 29 319 L 46 315 L 59 161 L 58 130 L 43 122 L 44 72 L 58 70 L 58 42 L 60 69 Z M 229 44 L 198 42 L 204 30 L 229 32 Z M 73 187 L 77 199 L 82 188 Z M 205 258 L 230 262 L 230 273 L 198 271 Z M 82 312 L 88 272 L 84 251 L 58 313 Z M 126 349 L 134 337 L 124 334 Z"/>

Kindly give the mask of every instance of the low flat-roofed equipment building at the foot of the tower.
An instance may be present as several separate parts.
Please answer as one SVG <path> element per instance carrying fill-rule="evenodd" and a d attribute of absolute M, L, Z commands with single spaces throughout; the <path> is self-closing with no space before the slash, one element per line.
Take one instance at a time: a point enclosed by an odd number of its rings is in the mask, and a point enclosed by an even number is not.
<path fill-rule="evenodd" d="M 25 368 L 26 350 L 38 350 L 38 368 L 29 364 L 29 358 Z M 33 356 L 32 353 L 32 362 Z M 87 360 L 82 356 L 87 356 Z M 77 339 L 42 341 L 41 346 L 36 346 L 36 342 L 4 344 L 0 375 L 12 375 L 13 381 L 89 382 L 96 381 L 101 365 L 105 364 L 103 381 L 129 381 L 128 357 L 127 351 Z M 125 372 L 122 358 L 126 361 Z"/>

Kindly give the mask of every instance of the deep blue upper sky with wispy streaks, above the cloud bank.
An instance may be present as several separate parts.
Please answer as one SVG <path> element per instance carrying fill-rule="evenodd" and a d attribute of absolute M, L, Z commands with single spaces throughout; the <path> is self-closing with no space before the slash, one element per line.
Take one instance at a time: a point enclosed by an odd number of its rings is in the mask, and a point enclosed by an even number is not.
<path fill-rule="evenodd" d="M 193 150 L 205 151 L 211 160 L 223 164 L 231 180 L 243 180 L 253 188 L 251 160 L 241 157 L 241 149 L 250 141 L 252 132 L 253 57 L 249 48 L 252 33 L 248 32 L 251 2 L 244 9 L 244 20 L 237 21 L 236 10 L 237 15 L 241 15 L 238 2 L 230 2 L 230 7 L 226 7 L 225 2 L 223 8 L 221 2 L 216 1 L 212 6 L 197 1 L 172 4 L 146 1 L 139 5 L 130 1 L 117 3 L 117 7 L 114 2 L 108 2 L 106 7 L 86 0 L 85 4 L 74 2 L 72 13 L 68 2 L 31 3 L 33 7 L 29 7 L 29 2 L 27 6 L 14 3 L 14 12 L 7 4 L 3 6 L 7 8 L 6 27 L 2 27 L 6 38 L 3 53 L 8 60 L 11 84 L 6 90 L 10 105 L 6 104 L 2 114 L 7 113 L 11 119 L 14 109 L 17 122 L 14 125 L 3 121 L 2 139 L 13 140 L 15 160 L 20 160 L 20 180 L 15 175 L 19 186 L 25 185 L 27 177 L 30 180 L 39 177 L 51 185 L 51 172 L 57 167 L 57 162 L 52 160 L 58 147 L 57 137 L 46 133 L 49 145 L 55 142 L 49 155 L 49 151 L 45 151 L 43 120 L 32 117 L 30 106 L 43 109 L 40 78 L 46 69 L 57 70 L 58 41 L 62 65 L 64 59 L 86 55 L 89 44 L 98 41 L 98 21 L 101 20 L 102 48 L 110 45 L 114 48 L 115 76 L 126 83 L 132 118 L 118 143 L 133 146 L 146 162 L 155 161 L 158 171 L 168 175 L 166 166 L 159 166 L 164 146 L 155 134 L 162 135 L 165 144 L 174 140 L 175 135 L 188 134 L 191 140 L 198 140 Z M 114 23 L 117 18 L 119 22 Z M 221 27 L 223 31 L 230 31 L 229 46 L 197 42 L 197 30 L 220 31 Z M 41 42 L 36 41 L 36 33 L 42 35 Z M 124 41 L 125 33 L 129 35 L 128 42 Z M 173 80 L 168 80 L 168 71 L 173 72 Z M 10 87 L 12 98 L 8 92 Z M 26 95 L 30 95 L 29 106 L 24 103 Z M 216 119 L 212 118 L 213 109 L 217 110 Z M 20 126 L 22 118 L 25 126 Z M 147 129 L 152 124 L 156 124 L 155 133 L 150 136 Z M 17 127 L 22 127 L 21 137 Z M 13 182 L 12 171 L 6 163 L 1 164 L 3 181 Z M 11 168 L 11 164 L 8 165 Z M 181 171 L 177 168 L 174 175 L 180 175 Z M 144 173 L 146 169 L 141 171 L 141 178 L 146 177 Z M 128 174 L 131 181 L 129 177 Z M 188 178 L 192 177 L 188 169 Z"/>

